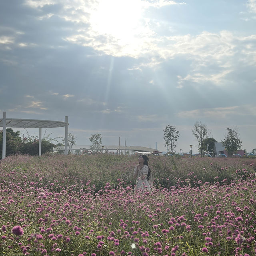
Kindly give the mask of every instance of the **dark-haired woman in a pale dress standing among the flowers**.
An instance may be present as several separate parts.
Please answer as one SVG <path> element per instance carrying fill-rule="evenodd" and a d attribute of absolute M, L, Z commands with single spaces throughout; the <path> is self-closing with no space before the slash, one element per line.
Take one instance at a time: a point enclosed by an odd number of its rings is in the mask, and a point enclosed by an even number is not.
<path fill-rule="evenodd" d="M 137 179 L 134 190 L 146 188 L 151 192 L 152 175 L 150 175 L 151 170 L 148 167 L 148 157 L 146 155 L 140 155 L 138 162 L 139 164 L 136 164 L 133 173 L 133 178 Z"/>

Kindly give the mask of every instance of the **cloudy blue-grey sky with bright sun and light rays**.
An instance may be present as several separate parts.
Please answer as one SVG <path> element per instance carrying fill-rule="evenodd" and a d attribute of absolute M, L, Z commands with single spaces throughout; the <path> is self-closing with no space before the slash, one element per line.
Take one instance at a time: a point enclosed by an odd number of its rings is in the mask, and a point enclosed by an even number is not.
<path fill-rule="evenodd" d="M 196 151 L 237 128 L 256 148 L 256 0 L 2 0 L 0 112 L 65 121 L 77 145 Z M 15 129 L 14 129 L 15 130 Z M 26 133 L 19 128 L 21 134 Z M 64 128 L 43 129 L 52 138 Z M 38 130 L 28 130 L 38 135 Z"/>

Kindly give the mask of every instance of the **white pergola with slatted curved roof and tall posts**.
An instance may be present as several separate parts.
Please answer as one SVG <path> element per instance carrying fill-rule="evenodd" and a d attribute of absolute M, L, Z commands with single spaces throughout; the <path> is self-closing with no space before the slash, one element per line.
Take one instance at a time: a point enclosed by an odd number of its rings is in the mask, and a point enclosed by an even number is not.
<path fill-rule="evenodd" d="M 20 119 L 20 118 L 0 118 L 0 127 L 3 127 L 3 152 L 2 159 L 6 156 L 6 127 L 11 128 L 39 128 L 39 156 L 42 153 L 42 128 L 58 128 L 65 127 L 65 151 L 68 154 L 68 116 L 65 117 L 65 122 L 50 121 L 50 120 L 37 120 L 37 119 Z"/>

